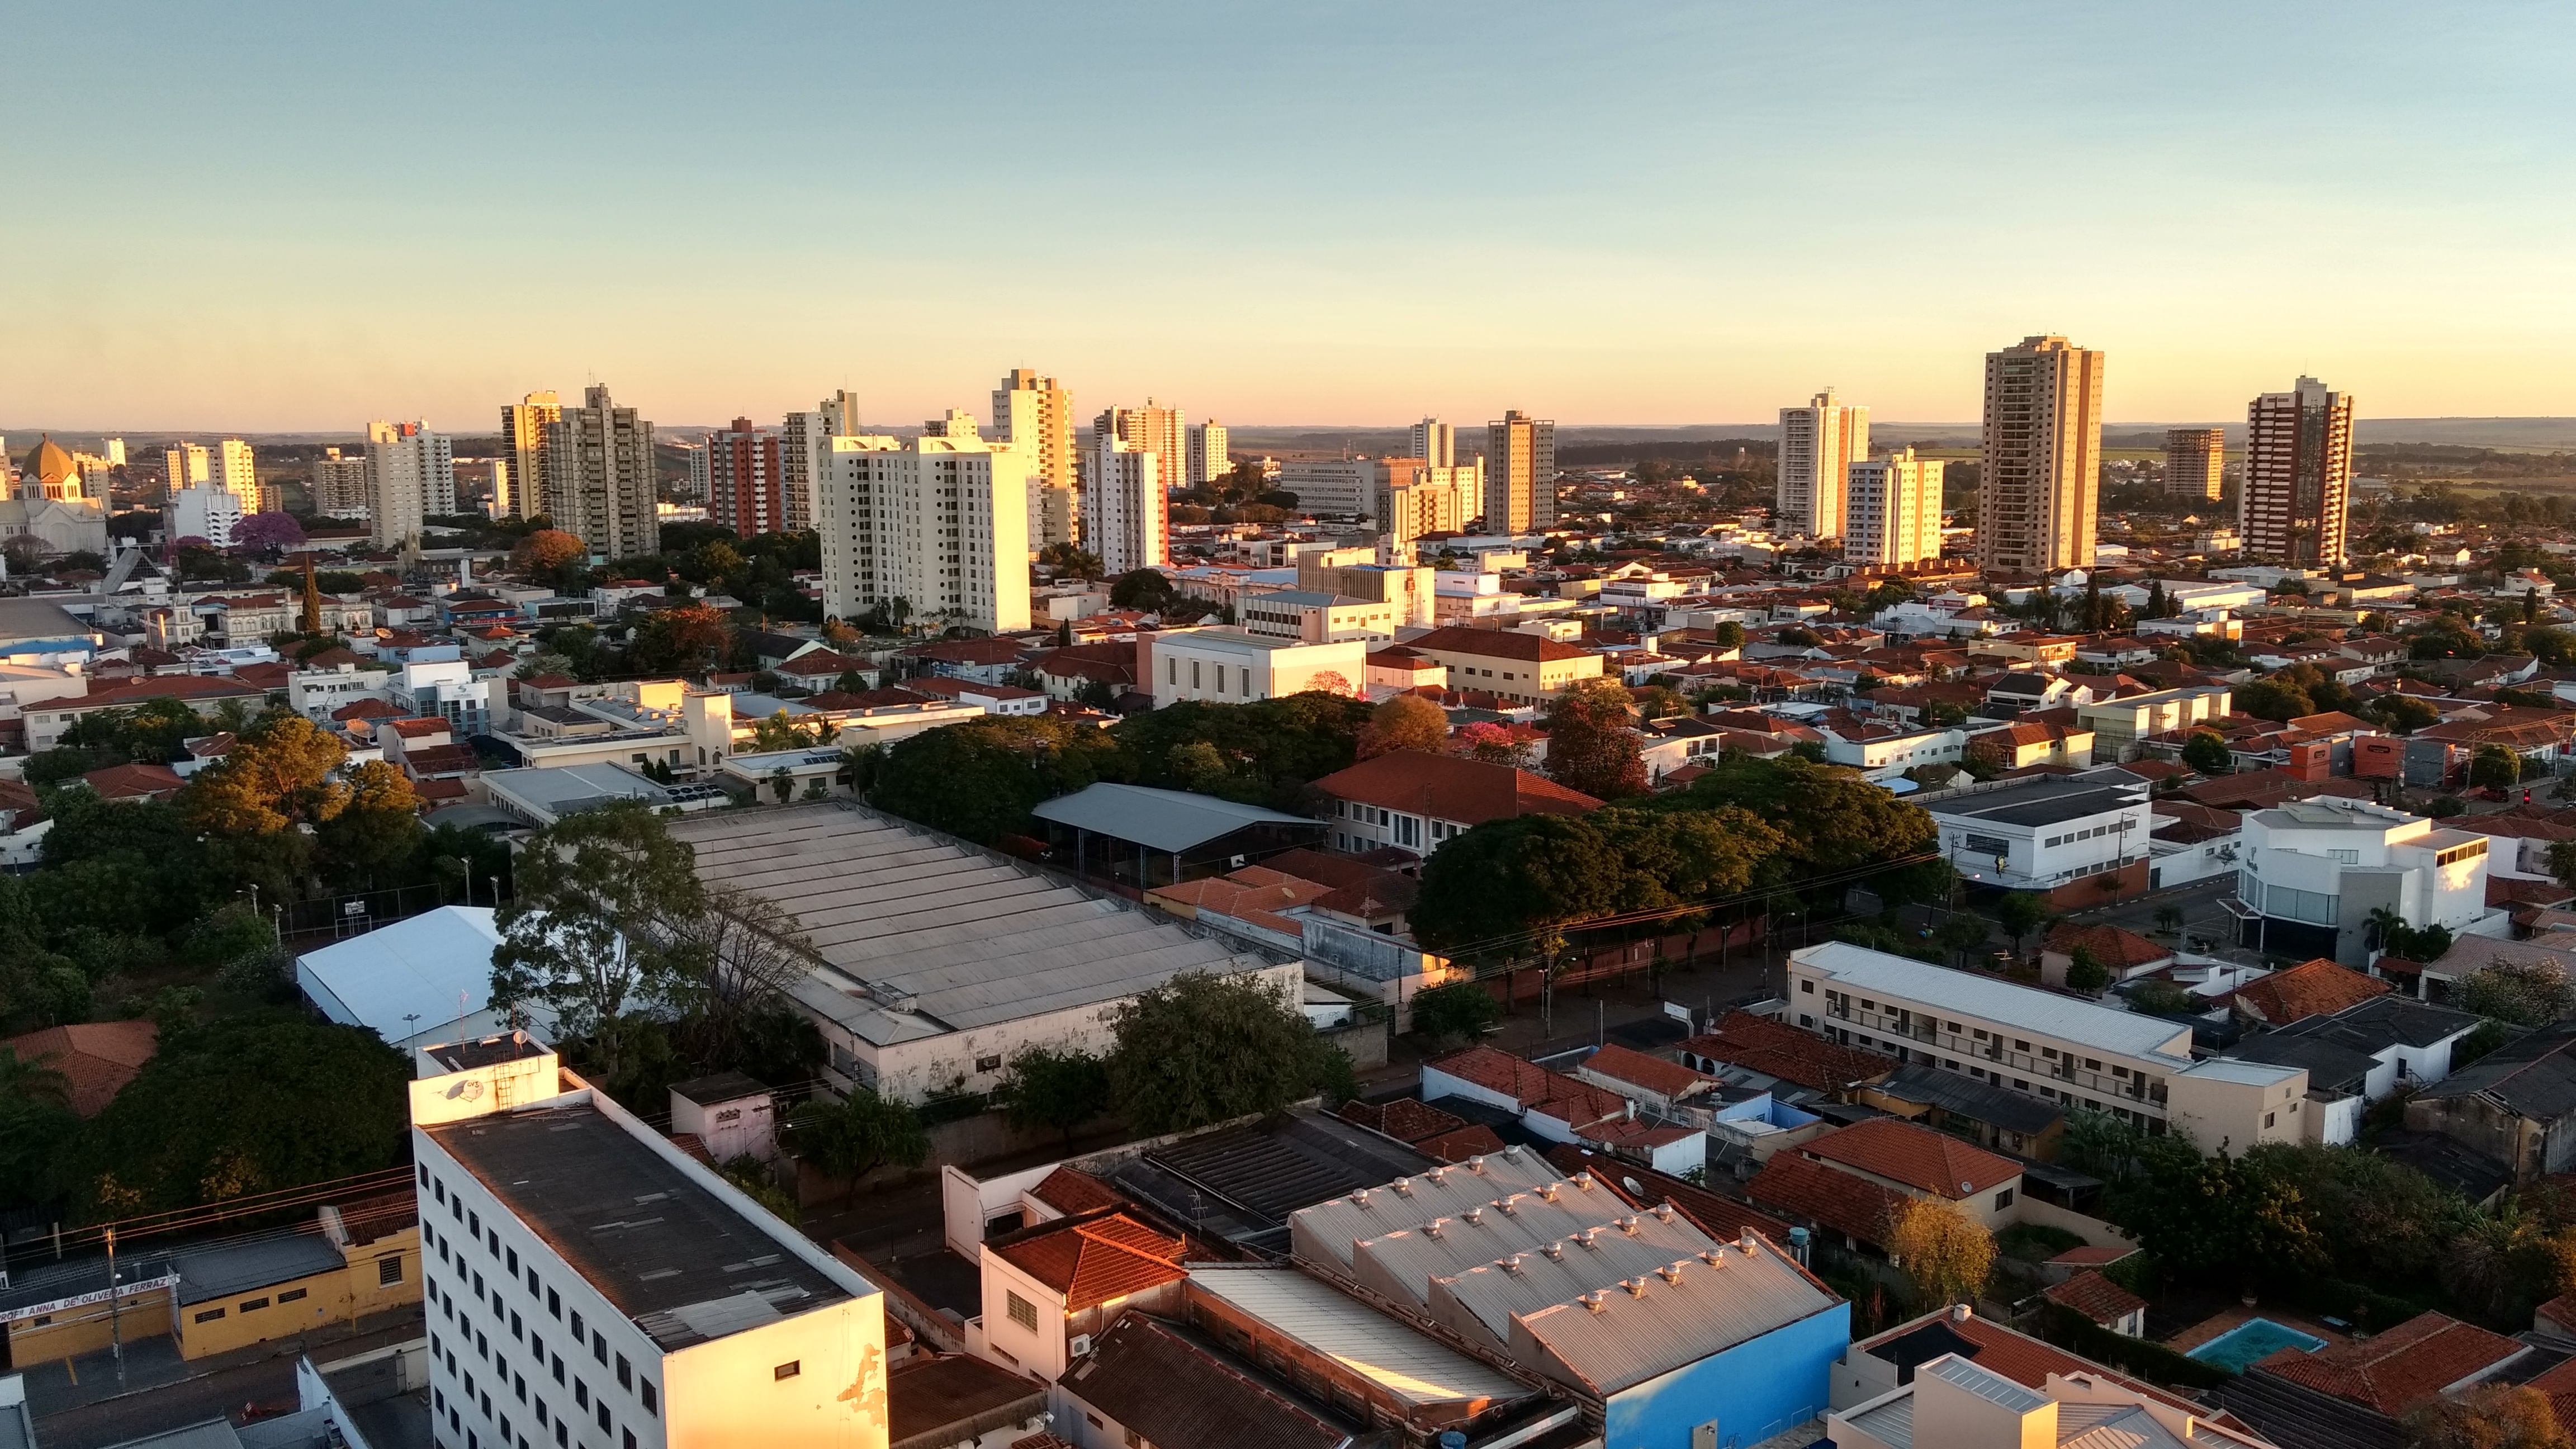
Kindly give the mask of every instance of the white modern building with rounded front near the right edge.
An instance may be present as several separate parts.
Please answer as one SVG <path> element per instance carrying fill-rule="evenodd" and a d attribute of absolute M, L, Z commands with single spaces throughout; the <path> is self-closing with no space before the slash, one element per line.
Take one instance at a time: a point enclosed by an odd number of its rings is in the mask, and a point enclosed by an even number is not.
<path fill-rule="evenodd" d="M 2267 954 L 2370 962 L 2372 913 L 2416 931 L 2509 936 L 2512 918 L 2486 905 L 2488 838 L 2445 830 L 2365 799 L 2293 799 L 2244 820 L 2236 897 L 2244 946 Z"/>

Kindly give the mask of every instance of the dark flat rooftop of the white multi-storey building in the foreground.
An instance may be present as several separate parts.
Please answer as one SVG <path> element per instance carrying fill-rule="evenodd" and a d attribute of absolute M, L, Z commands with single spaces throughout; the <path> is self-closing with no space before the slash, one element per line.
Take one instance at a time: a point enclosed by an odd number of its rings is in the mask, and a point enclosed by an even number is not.
<path fill-rule="evenodd" d="M 848 1289 L 598 1109 L 549 1106 L 425 1129 L 662 1348 L 840 1299 Z"/>

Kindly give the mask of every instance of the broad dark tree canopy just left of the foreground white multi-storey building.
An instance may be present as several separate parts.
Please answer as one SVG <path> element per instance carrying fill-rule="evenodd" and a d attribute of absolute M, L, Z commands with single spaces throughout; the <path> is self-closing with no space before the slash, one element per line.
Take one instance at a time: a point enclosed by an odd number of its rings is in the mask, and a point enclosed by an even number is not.
<path fill-rule="evenodd" d="M 301 1016 L 165 1034 L 82 1132 L 67 1186 L 93 1217 L 131 1217 L 389 1168 L 410 1075 L 374 1031 Z"/>

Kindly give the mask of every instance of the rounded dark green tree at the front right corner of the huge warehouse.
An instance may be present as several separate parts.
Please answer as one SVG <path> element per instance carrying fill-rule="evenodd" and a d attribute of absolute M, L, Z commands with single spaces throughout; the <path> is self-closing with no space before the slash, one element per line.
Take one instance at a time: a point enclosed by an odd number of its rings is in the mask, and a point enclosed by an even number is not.
<path fill-rule="evenodd" d="M 1285 1109 L 1319 1088 L 1347 1096 L 1350 1057 L 1260 977 L 1182 972 L 1110 1018 L 1110 1098 L 1146 1137 Z"/>

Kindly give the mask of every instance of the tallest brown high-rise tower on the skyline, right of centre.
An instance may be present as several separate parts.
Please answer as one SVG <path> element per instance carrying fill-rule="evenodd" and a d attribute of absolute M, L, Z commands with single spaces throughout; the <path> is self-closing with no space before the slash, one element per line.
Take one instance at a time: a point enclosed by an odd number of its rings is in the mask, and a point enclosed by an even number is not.
<path fill-rule="evenodd" d="M 2102 353 L 2056 335 L 1986 353 L 1978 567 L 2089 570 L 2099 503 Z"/>

